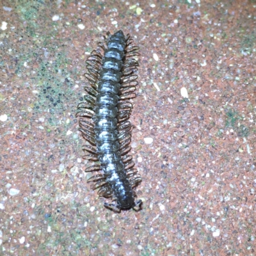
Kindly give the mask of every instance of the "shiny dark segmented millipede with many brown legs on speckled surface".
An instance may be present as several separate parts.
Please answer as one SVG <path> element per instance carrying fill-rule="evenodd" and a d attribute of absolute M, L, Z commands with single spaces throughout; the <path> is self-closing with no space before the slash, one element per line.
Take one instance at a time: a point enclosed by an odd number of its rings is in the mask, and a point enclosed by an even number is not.
<path fill-rule="evenodd" d="M 134 168 L 131 151 L 129 121 L 132 111 L 130 99 L 136 97 L 138 86 L 138 46 L 131 36 L 117 31 L 104 36 L 86 60 L 84 74 L 89 86 L 84 101 L 77 106 L 79 131 L 86 140 L 84 159 L 94 161 L 85 172 L 97 172 L 87 182 L 98 195 L 111 198 L 104 206 L 112 211 L 124 209 L 140 211 L 142 201 L 135 200 L 133 190 L 141 182 L 141 175 Z"/>

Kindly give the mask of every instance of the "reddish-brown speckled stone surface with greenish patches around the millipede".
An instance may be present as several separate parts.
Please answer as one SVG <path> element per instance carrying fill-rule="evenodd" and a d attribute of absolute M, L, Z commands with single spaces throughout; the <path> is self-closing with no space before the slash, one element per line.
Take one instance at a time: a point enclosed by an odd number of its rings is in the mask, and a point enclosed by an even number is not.
<path fill-rule="evenodd" d="M 255 255 L 256 2 L 106 2 L 0 3 L 0 254 Z M 86 184 L 75 118 L 117 29 L 141 49 L 144 203 L 121 214 Z"/>

